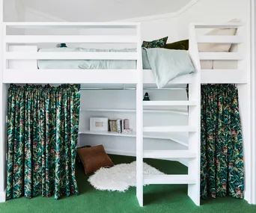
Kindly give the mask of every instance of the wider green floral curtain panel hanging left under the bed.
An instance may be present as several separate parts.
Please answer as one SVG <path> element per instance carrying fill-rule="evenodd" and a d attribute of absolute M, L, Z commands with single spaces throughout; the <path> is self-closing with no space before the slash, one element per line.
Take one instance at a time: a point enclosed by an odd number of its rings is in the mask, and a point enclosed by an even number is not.
<path fill-rule="evenodd" d="M 80 86 L 10 85 L 7 199 L 78 194 Z"/>

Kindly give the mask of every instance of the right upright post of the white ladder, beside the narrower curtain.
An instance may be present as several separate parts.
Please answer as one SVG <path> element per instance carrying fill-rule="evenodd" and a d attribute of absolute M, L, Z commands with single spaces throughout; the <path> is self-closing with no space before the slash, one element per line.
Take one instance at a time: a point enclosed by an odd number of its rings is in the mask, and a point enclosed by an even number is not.
<path fill-rule="evenodd" d="M 196 132 L 189 132 L 189 151 L 195 152 L 197 156 L 189 159 L 189 176 L 195 179 L 195 184 L 188 185 L 188 194 L 193 202 L 200 206 L 201 66 L 195 25 L 190 25 L 189 27 L 189 55 L 196 70 L 192 74 L 193 81 L 189 84 L 189 101 L 196 102 L 196 105 L 189 106 L 189 126 L 193 126 L 196 129 Z"/>

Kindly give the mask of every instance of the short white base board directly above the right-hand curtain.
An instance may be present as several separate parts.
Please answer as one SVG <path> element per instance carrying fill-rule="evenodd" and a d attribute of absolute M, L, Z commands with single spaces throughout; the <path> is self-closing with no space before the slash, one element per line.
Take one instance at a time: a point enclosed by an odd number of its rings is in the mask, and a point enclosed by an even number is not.
<path fill-rule="evenodd" d="M 246 84 L 245 70 L 201 70 L 201 84 Z"/>

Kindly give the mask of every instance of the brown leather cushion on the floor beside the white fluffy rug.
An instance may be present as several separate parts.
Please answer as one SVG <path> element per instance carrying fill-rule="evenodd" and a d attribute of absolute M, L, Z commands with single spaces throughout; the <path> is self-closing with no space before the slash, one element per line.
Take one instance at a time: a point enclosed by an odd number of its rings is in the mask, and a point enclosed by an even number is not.
<path fill-rule="evenodd" d="M 103 145 L 78 148 L 77 152 L 85 167 L 85 174 L 99 170 L 101 167 L 113 167 L 114 164 L 106 154 Z"/>

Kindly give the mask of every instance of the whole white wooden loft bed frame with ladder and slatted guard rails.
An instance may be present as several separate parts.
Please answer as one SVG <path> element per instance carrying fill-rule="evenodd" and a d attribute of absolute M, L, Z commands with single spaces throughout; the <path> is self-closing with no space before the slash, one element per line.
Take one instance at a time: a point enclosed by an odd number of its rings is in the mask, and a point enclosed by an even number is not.
<path fill-rule="evenodd" d="M 189 26 L 189 55 L 196 72 L 183 75 L 168 83 L 189 84 L 189 100 L 187 101 L 150 101 L 143 102 L 143 88 L 147 84 L 155 84 L 151 70 L 142 70 L 141 27 L 139 23 L 127 22 L 5 22 L 4 24 L 3 72 L 1 84 L 7 93 L 7 85 L 14 84 L 132 84 L 136 90 L 136 162 L 138 203 L 143 206 L 144 184 L 187 184 L 188 195 L 192 201 L 200 205 L 200 128 L 201 128 L 201 84 L 237 84 L 240 92 L 240 111 L 243 123 L 243 140 L 245 149 L 250 144 L 250 72 L 249 56 L 243 52 L 246 46 L 246 30 L 235 36 L 198 36 L 198 28 L 244 28 L 242 23 L 227 24 L 192 24 Z M 132 29 L 135 34 L 122 35 L 10 35 L 8 30 L 18 29 Z M 240 32 L 240 31 L 239 31 Z M 137 52 L 10 52 L 11 45 L 37 45 L 39 43 L 133 43 Z M 198 52 L 198 43 L 234 43 L 241 44 L 238 52 Z M 9 61 L 26 60 L 133 60 L 137 61 L 135 70 L 38 70 L 9 69 Z M 200 60 L 239 61 L 237 70 L 201 70 Z M 124 88 L 124 87 L 123 87 Z M 87 88 L 88 89 L 88 88 Z M 2 99 L 6 105 L 7 99 Z M 189 106 L 188 126 L 143 126 L 144 106 Z M 6 108 L 5 108 L 6 109 Z M 4 118 L 4 111 L 1 117 Z M 6 128 L 6 127 L 5 127 Z M 4 129 L 4 127 L 3 127 Z M 3 131 L 4 132 L 4 131 Z M 187 150 L 144 150 L 143 132 L 189 132 Z M 4 133 L 5 134 L 5 133 Z M 188 158 L 188 175 L 144 176 L 143 158 Z"/>

